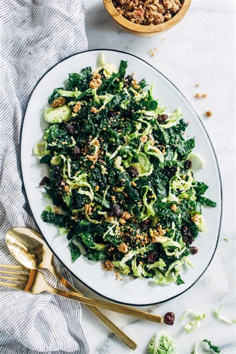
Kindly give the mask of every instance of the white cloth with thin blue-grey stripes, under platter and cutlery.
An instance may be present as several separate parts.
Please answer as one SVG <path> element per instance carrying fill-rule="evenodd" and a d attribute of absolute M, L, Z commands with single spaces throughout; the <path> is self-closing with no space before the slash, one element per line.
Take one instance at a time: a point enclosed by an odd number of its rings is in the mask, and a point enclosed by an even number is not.
<path fill-rule="evenodd" d="M 0 16 L 0 263 L 17 264 L 5 246 L 5 232 L 12 226 L 35 230 L 19 172 L 25 106 L 42 74 L 86 50 L 87 39 L 82 0 L 1 0 Z M 71 280 L 65 270 L 64 275 Z M 0 353 L 87 354 L 80 320 L 79 303 L 0 287 Z"/>

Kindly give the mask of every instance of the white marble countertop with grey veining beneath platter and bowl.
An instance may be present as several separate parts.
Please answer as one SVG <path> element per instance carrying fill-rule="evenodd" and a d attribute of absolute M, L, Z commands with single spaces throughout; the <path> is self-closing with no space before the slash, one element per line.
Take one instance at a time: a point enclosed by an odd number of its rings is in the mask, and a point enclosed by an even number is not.
<path fill-rule="evenodd" d="M 201 117 L 216 150 L 223 190 L 224 210 L 219 245 L 202 278 L 189 291 L 164 304 L 143 308 L 157 314 L 173 311 L 173 327 L 109 313 L 109 316 L 138 343 L 136 354 L 147 353 L 151 337 L 161 330 L 174 335 L 179 354 L 190 354 L 194 344 L 209 339 L 222 348 L 221 354 L 236 353 L 235 326 L 220 322 L 213 309 L 224 306 L 235 318 L 235 112 L 234 112 L 234 1 L 193 0 L 189 13 L 172 30 L 151 38 L 123 32 L 106 13 L 102 0 L 85 0 L 86 31 L 89 49 L 108 48 L 126 51 L 143 58 L 169 78 L 187 97 Z M 154 48 L 157 48 L 155 51 Z M 155 51 L 151 57 L 150 50 Z M 199 84 L 199 87 L 195 87 Z M 206 99 L 194 95 L 207 93 Z M 204 113 L 213 111 L 211 118 Z M 229 241 L 223 240 L 224 237 Z M 85 295 L 99 296 L 81 284 Z M 191 334 L 183 331 L 179 318 L 193 308 L 207 318 Z M 91 354 L 131 353 L 94 315 L 82 307 L 82 324 Z M 207 347 L 205 347 L 207 348 Z M 210 353 L 201 351 L 201 353 Z"/>

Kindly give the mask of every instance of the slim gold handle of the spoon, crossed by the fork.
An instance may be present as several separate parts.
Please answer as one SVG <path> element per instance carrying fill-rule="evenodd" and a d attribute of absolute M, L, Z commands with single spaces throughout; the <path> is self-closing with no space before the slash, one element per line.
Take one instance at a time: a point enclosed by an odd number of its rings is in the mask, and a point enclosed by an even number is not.
<path fill-rule="evenodd" d="M 55 277 L 60 280 L 60 282 L 70 291 L 76 292 L 83 296 L 68 280 L 63 278 L 63 276 L 54 267 L 50 267 L 50 271 L 55 275 Z M 112 322 L 105 314 L 103 314 L 97 307 L 85 305 L 91 312 L 95 314 L 110 330 L 118 336 L 130 349 L 133 351 L 137 348 L 137 344 L 127 336 L 115 323 Z"/>

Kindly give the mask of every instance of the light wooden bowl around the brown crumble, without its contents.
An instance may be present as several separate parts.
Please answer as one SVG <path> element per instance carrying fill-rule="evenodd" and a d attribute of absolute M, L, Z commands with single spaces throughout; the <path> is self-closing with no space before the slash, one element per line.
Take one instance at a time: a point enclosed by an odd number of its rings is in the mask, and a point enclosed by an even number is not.
<path fill-rule="evenodd" d="M 157 25 L 154 24 L 142 25 L 142 24 L 133 23 L 118 13 L 112 0 L 103 0 L 103 3 L 110 16 L 113 18 L 113 20 L 121 29 L 123 29 L 128 33 L 135 34 L 136 36 L 151 37 L 155 34 L 165 32 L 171 27 L 174 27 L 177 23 L 179 23 L 186 15 L 190 7 L 191 0 L 184 0 L 182 7 L 174 15 L 174 17 L 172 17 L 170 20 L 166 22 Z"/>

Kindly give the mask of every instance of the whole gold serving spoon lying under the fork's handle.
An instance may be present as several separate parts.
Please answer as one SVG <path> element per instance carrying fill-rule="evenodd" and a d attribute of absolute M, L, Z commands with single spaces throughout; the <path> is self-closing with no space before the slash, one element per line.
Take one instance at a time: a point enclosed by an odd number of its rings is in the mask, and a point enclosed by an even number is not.
<path fill-rule="evenodd" d="M 13 255 L 22 265 L 29 269 L 38 270 L 46 268 L 70 291 L 81 294 L 71 283 L 53 267 L 53 254 L 41 236 L 33 230 L 27 228 L 12 228 L 6 233 L 6 244 Z M 95 314 L 110 330 L 115 333 L 130 349 L 135 350 L 137 344 L 128 337 L 115 323 L 112 322 L 98 308 L 85 305 Z"/>

